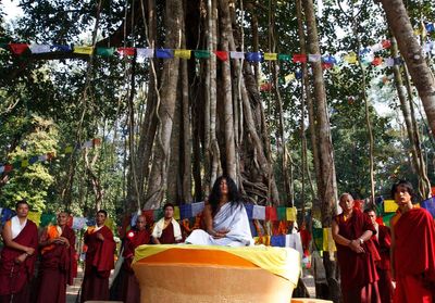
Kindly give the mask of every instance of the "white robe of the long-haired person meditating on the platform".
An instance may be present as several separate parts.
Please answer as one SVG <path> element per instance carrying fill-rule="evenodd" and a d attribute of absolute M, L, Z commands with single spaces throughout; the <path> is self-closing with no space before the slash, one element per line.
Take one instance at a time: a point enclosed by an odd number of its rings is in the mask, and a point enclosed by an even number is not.
<path fill-rule="evenodd" d="M 224 245 L 249 247 L 253 245 L 248 214 L 243 204 L 232 205 L 229 202 L 222 205 L 213 218 L 213 229 L 229 230 L 224 238 L 214 239 L 202 229 L 194 230 L 186 242 L 195 245 Z"/>

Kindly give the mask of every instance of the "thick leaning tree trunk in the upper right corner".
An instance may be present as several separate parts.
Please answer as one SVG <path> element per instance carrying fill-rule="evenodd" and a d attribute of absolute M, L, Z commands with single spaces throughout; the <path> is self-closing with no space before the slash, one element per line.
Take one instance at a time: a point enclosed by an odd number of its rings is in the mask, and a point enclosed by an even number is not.
<path fill-rule="evenodd" d="M 424 111 L 435 134 L 435 78 L 424 60 L 402 0 L 381 0 L 387 22 L 397 39 L 400 53 L 422 100 Z"/>

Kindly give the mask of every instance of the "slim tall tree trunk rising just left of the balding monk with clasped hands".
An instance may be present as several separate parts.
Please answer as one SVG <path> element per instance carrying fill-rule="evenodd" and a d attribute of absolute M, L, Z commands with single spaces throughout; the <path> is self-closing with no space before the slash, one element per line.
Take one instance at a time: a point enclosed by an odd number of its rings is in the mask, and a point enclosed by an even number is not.
<path fill-rule="evenodd" d="M 303 11 L 306 14 L 309 53 L 320 54 L 319 36 L 314 15 L 312 0 L 303 0 Z M 335 166 L 333 156 L 333 147 L 331 140 L 330 119 L 327 115 L 326 93 L 323 79 L 321 62 L 312 62 L 314 101 L 315 101 L 315 121 L 319 144 L 319 163 L 321 171 L 322 187 L 318 189 L 321 200 L 322 226 L 331 227 L 332 217 L 336 211 L 337 187 L 335 179 Z M 320 191 L 319 191 L 320 190 Z M 324 252 L 323 263 L 325 265 L 330 293 L 320 294 L 321 298 L 328 298 L 334 302 L 339 301 L 340 291 L 337 281 L 337 262 L 333 252 Z"/>

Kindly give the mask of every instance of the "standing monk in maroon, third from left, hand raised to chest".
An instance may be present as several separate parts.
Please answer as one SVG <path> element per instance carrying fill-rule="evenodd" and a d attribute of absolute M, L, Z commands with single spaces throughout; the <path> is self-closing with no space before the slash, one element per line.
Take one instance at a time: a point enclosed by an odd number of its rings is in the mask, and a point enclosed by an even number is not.
<path fill-rule="evenodd" d="M 115 241 L 112 231 L 104 226 L 107 217 L 105 211 L 98 211 L 97 226 L 89 227 L 85 232 L 88 250 L 82 283 L 82 302 L 109 300 L 109 276 L 114 265 Z"/>

